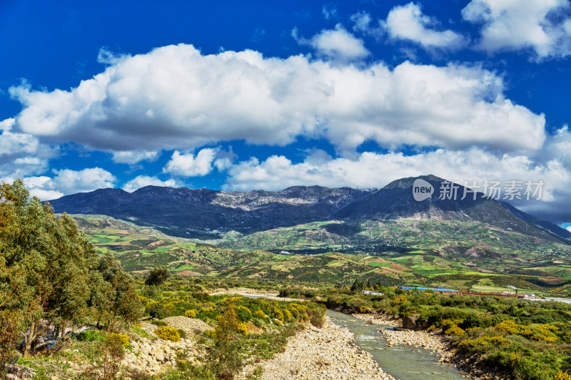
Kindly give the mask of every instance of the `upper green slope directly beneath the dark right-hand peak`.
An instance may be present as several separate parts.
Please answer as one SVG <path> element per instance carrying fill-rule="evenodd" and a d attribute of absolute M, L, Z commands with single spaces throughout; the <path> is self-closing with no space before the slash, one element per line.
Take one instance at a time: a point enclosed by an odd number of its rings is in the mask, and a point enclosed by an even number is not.
<path fill-rule="evenodd" d="M 390 251 L 422 247 L 462 253 L 478 248 L 488 254 L 565 253 L 571 246 L 549 236 L 540 238 L 482 222 L 458 220 L 330 220 L 213 240 L 234 249 Z"/>

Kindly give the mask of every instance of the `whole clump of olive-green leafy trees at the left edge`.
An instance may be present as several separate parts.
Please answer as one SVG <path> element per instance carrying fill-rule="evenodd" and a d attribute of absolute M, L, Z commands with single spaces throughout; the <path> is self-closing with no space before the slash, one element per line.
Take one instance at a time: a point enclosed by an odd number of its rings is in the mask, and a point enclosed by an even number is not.
<path fill-rule="evenodd" d="M 64 334 L 92 312 L 133 322 L 140 309 L 133 279 L 100 259 L 69 215 L 30 198 L 21 180 L 0 185 L 0 364 L 26 329 L 29 354 L 41 322 Z"/>

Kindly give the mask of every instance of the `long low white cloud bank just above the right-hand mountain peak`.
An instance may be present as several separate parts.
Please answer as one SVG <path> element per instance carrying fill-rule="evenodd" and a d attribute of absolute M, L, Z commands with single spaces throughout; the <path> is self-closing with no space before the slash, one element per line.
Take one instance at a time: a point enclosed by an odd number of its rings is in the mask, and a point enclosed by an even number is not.
<path fill-rule="evenodd" d="M 537 165 L 523 155 L 496 156 L 479 148 L 465 151 L 438 149 L 429 153 L 361 153 L 356 160 L 348 158 L 318 160 L 315 154 L 301 163 L 292 163 L 284 156 L 273 155 L 260 162 L 256 158 L 238 163 L 228 172 L 228 189 L 256 188 L 281 190 L 290 185 L 320 184 L 332 188 L 381 188 L 392 180 L 432 173 L 450 180 L 498 180 L 502 178 L 544 178 L 562 165 Z M 567 175 L 565 175 L 567 176 Z M 277 180 L 279 178 L 279 180 Z"/>

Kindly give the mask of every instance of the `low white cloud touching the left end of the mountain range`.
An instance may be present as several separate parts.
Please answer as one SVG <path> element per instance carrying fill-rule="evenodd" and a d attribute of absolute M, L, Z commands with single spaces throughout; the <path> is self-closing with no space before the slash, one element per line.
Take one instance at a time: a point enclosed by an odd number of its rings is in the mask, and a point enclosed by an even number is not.
<path fill-rule="evenodd" d="M 113 188 L 116 180 L 114 175 L 101 168 L 63 169 L 54 170 L 54 177 L 41 175 L 24 178 L 24 185 L 30 191 L 30 195 L 41 200 L 53 200 L 76 192 Z"/>

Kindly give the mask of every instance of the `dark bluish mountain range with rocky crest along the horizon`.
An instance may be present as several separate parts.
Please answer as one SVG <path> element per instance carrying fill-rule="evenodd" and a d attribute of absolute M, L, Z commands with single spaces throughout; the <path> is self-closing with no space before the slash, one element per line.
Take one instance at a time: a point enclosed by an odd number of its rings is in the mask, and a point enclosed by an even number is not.
<path fill-rule="evenodd" d="M 434 190 L 428 199 L 413 197 L 415 180 L 434 189 L 448 181 L 434 175 L 403 178 L 379 190 L 294 186 L 271 192 L 166 188 L 146 186 L 134 192 L 100 189 L 66 195 L 49 203 L 55 212 L 108 215 L 137 225 L 154 227 L 179 237 L 213 240 L 237 232 L 255 232 L 319 221 L 458 220 L 481 222 L 552 242 L 569 242 L 571 232 L 528 215 L 507 202 L 481 192 L 460 199 L 440 199 Z M 458 195 L 465 189 L 458 185 Z"/>

